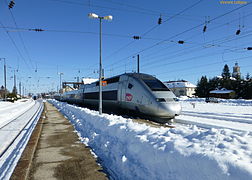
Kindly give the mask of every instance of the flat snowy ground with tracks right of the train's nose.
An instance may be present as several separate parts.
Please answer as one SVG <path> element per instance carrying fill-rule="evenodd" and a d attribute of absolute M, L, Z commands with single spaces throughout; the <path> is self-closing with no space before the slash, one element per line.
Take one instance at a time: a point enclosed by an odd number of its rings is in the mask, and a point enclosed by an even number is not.
<path fill-rule="evenodd" d="M 182 101 L 183 112 L 177 117 L 176 122 L 200 127 L 252 131 L 252 101 L 219 101 L 220 103 L 205 103 L 204 99 Z"/>

